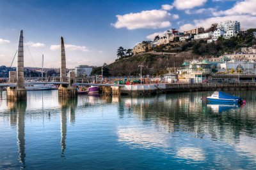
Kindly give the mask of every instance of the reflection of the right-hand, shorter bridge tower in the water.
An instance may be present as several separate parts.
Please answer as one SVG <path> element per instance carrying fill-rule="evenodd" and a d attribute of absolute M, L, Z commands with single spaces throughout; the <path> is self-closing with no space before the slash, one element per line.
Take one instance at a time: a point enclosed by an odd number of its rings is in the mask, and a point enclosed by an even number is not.
<path fill-rule="evenodd" d="M 75 124 L 76 122 L 76 108 L 77 108 L 77 98 L 59 98 L 60 104 L 60 131 L 61 131 L 61 157 L 65 157 L 66 150 L 66 138 L 67 138 L 67 113 L 69 117 L 69 122 Z"/>

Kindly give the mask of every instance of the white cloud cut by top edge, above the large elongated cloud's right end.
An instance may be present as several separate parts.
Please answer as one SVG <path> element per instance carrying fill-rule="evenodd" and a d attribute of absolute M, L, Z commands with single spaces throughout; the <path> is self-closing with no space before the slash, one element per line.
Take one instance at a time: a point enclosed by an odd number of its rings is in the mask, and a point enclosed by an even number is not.
<path fill-rule="evenodd" d="M 175 0 L 173 6 L 178 10 L 192 9 L 196 6 L 203 6 L 207 0 Z"/>

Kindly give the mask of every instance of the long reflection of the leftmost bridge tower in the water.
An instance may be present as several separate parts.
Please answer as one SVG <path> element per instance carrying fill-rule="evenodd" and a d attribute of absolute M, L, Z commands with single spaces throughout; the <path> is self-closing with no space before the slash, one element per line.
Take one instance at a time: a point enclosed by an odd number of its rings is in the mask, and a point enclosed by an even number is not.
<path fill-rule="evenodd" d="M 26 101 L 8 101 L 7 105 L 10 113 L 10 124 L 17 128 L 19 161 L 22 164 L 22 168 L 25 168 L 25 113 L 27 104 Z"/>

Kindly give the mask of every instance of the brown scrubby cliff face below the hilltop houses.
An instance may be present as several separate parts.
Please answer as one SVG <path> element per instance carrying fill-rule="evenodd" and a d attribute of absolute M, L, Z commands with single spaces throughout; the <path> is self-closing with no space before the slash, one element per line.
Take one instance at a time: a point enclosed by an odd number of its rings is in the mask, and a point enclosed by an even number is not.
<path fill-rule="evenodd" d="M 186 57 L 185 57 L 186 56 Z M 140 74 L 139 65 L 142 64 L 143 75 L 157 75 L 166 73 L 167 67 L 178 67 L 185 59 L 193 59 L 191 55 L 156 55 L 151 53 L 144 53 L 141 55 L 134 55 L 127 59 L 117 60 L 109 64 L 109 74 L 111 76 L 138 76 Z"/>

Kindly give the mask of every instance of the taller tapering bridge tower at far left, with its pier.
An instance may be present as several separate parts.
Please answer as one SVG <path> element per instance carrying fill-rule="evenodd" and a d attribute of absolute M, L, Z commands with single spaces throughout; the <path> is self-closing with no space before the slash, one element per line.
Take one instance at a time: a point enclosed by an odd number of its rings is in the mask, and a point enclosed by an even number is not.
<path fill-rule="evenodd" d="M 17 86 L 7 88 L 8 100 L 26 100 L 27 92 L 24 87 L 24 50 L 23 50 L 23 30 L 20 31 L 17 56 Z"/>

